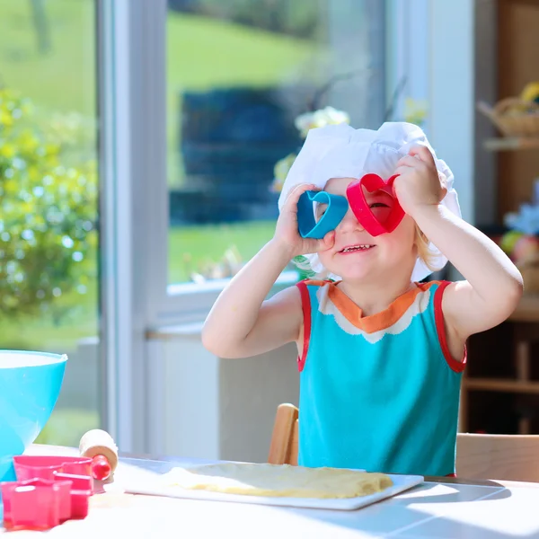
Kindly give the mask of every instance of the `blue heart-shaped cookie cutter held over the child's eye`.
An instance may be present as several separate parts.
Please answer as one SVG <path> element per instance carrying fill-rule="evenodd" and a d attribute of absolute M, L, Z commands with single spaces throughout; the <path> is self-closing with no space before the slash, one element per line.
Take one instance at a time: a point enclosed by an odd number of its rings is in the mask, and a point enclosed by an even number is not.
<path fill-rule="evenodd" d="M 313 202 L 327 204 L 325 213 L 317 222 Z M 335 230 L 349 209 L 346 197 L 331 195 L 326 191 L 308 190 L 297 201 L 297 228 L 302 238 L 321 240 L 325 234 Z"/>

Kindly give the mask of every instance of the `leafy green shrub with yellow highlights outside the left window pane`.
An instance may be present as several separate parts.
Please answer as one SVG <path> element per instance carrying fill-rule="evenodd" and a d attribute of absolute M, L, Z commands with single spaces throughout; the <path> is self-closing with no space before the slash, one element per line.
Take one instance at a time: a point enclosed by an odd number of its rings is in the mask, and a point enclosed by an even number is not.
<path fill-rule="evenodd" d="M 48 311 L 92 278 L 97 170 L 70 121 L 0 88 L 0 316 Z"/>

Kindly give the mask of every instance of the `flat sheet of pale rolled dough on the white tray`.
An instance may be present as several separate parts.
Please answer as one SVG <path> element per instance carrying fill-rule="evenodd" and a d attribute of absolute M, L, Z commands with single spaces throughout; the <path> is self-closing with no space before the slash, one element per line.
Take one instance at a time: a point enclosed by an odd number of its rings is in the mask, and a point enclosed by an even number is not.
<path fill-rule="evenodd" d="M 393 485 L 384 473 L 289 464 L 205 464 L 173 468 L 163 475 L 167 487 L 228 494 L 287 498 L 357 498 Z"/>

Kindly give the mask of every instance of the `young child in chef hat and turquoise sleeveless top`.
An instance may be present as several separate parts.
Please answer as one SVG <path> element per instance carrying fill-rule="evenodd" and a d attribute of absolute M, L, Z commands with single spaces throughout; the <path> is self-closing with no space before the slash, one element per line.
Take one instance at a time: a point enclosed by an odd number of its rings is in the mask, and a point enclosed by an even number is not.
<path fill-rule="evenodd" d="M 322 240 L 297 232 L 305 190 L 346 196 L 350 181 L 399 174 L 405 212 L 390 234 L 368 234 L 349 209 Z M 394 199 L 367 193 L 380 220 Z M 300 374 L 298 464 L 450 475 L 465 341 L 508 318 L 522 278 L 499 247 L 460 216 L 453 174 L 420 128 L 386 123 L 312 129 L 284 183 L 276 231 L 232 279 L 204 326 L 222 358 L 295 341 Z M 324 208 L 316 208 L 318 216 Z M 434 247 L 436 245 L 436 247 Z M 265 300 L 297 255 L 331 279 Z M 447 259 L 459 282 L 420 284 Z"/>

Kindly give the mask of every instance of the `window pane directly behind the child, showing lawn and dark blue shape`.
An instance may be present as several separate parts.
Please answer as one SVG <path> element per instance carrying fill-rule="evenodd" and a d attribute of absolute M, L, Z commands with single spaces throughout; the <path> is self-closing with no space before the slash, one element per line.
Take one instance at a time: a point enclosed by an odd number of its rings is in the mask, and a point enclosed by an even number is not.
<path fill-rule="evenodd" d="M 170 0 L 166 32 L 168 283 L 185 298 L 270 240 L 298 115 L 383 119 L 384 2 Z"/>

